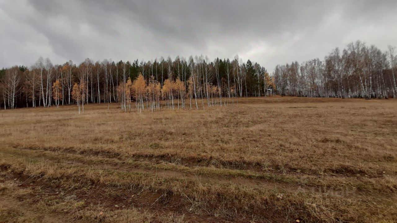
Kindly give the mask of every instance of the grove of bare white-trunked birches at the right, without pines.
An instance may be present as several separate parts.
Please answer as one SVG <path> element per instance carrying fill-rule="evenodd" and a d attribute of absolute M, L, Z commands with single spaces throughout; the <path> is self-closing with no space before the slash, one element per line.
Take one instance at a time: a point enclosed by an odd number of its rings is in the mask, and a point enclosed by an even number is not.
<path fill-rule="evenodd" d="M 382 52 L 357 41 L 324 60 L 277 65 L 273 77 L 281 95 L 338 98 L 395 98 L 397 95 L 395 47 Z"/>

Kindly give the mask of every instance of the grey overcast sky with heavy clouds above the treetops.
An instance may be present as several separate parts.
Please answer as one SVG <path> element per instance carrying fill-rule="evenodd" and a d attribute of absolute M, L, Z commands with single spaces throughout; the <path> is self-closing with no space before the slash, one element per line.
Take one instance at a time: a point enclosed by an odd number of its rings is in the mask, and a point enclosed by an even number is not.
<path fill-rule="evenodd" d="M 277 64 L 397 46 L 397 1 L 0 0 L 0 67 L 206 55 Z"/>

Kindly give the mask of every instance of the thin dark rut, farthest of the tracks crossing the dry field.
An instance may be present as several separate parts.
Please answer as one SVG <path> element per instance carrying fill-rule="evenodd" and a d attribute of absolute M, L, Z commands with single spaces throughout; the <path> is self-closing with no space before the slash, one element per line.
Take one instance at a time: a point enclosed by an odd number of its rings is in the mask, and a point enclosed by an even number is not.
<path fill-rule="evenodd" d="M 279 166 L 277 163 L 273 163 L 270 166 L 264 167 L 261 163 L 252 162 L 247 160 L 222 160 L 218 158 L 203 158 L 203 157 L 179 157 L 177 155 L 171 154 L 121 154 L 119 152 L 113 151 L 102 151 L 94 149 L 76 149 L 76 148 L 47 148 L 47 147 L 37 147 L 37 146 L 27 146 L 22 144 L 10 144 L 16 149 L 28 149 L 28 150 L 45 150 L 52 152 L 64 152 L 67 154 L 78 154 L 85 156 L 98 156 L 101 158 L 113 158 L 120 161 L 123 160 L 133 160 L 133 161 L 150 161 L 152 163 L 175 163 L 186 167 L 209 167 L 216 166 L 218 168 L 233 169 L 241 171 L 252 171 L 252 172 L 266 172 L 268 174 L 292 174 L 299 175 L 305 174 L 308 176 L 317 177 L 319 173 L 316 169 L 296 169 L 296 167 L 289 167 L 288 165 Z M 264 171 L 264 169 L 266 169 Z M 355 169 L 353 167 L 338 166 L 328 169 L 322 169 L 322 174 L 331 177 L 343 177 L 343 178 L 356 178 L 357 174 L 366 175 L 368 178 L 378 178 L 382 177 L 384 172 L 383 169 L 371 169 L 371 171 L 364 171 L 360 168 Z"/>

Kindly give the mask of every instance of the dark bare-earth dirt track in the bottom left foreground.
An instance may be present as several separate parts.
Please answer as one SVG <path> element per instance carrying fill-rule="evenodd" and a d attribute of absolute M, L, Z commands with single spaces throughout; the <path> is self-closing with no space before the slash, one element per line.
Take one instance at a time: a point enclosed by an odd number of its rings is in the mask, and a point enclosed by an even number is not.
<path fill-rule="evenodd" d="M 51 161 L 51 160 L 46 160 Z M 69 165 L 69 161 L 64 162 L 64 164 Z M 74 163 L 75 165 L 81 163 Z M 81 164 L 85 165 L 85 164 Z M 87 166 L 87 165 L 85 165 Z M 115 213 L 118 215 L 117 211 L 128 210 L 133 208 L 134 210 L 139 210 L 140 214 L 151 215 L 152 219 L 155 221 L 142 221 L 142 222 L 161 222 L 161 216 L 167 213 L 175 213 L 172 215 L 177 217 L 179 212 L 181 212 L 180 207 L 177 208 L 178 198 L 175 194 L 162 194 L 159 192 L 142 192 L 131 195 L 127 190 L 118 188 L 118 193 L 111 195 L 102 185 L 91 186 L 90 190 L 87 192 L 85 188 L 73 188 L 71 190 L 63 190 L 62 194 L 58 194 L 59 187 L 53 185 L 50 182 L 40 181 L 39 179 L 34 179 L 28 175 L 21 173 L 11 173 L 6 177 L 0 177 L 0 182 L 4 184 L 14 185 L 9 188 L 0 187 L 0 222 L 42 222 L 42 223 L 83 223 L 87 222 L 82 216 L 84 216 L 84 211 L 79 213 L 79 211 L 69 211 L 60 212 L 54 210 L 47 210 L 48 202 L 51 205 L 57 204 L 59 200 L 65 201 L 84 201 L 84 204 L 89 207 L 94 207 L 94 210 L 98 210 L 96 215 L 101 216 L 100 210 L 104 213 Z M 15 186 L 17 185 L 17 186 Z M 59 186 L 59 185 L 58 185 Z M 34 192 L 29 195 L 17 195 L 18 191 L 26 188 L 40 188 L 39 192 Z M 106 194 L 106 195 L 105 195 Z M 120 194 L 123 196 L 120 197 Z M 36 210 L 35 203 L 39 200 L 46 198 L 46 202 L 40 204 L 40 208 Z M 164 201 L 167 205 L 164 205 Z M 52 203 L 54 202 L 54 203 Z M 117 204 L 117 205 L 116 205 Z M 31 206 L 33 205 L 33 207 Z M 50 209 L 50 208 L 49 208 Z M 102 213 L 103 213 L 102 212 Z M 121 212 L 122 213 L 122 212 Z M 128 212 L 127 212 L 128 214 Z M 192 213 L 183 212 L 184 222 L 197 222 L 197 223 L 208 223 L 208 222 L 229 222 L 224 218 L 214 219 L 212 216 L 205 214 L 200 218 Z M 4 221 L 4 219 L 6 221 Z M 95 218 L 96 219 L 96 218 Z M 97 219 L 97 222 L 101 222 Z M 107 221 L 106 221 L 107 222 Z M 123 221 L 124 222 L 124 221 Z M 175 221 L 179 222 L 179 221 Z M 237 223 L 243 223 L 244 221 L 235 221 Z"/>

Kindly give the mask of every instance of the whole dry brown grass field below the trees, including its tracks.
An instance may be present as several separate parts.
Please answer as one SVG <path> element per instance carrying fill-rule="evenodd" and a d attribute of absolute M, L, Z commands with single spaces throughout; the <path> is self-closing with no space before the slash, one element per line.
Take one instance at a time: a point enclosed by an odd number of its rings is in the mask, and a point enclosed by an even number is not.
<path fill-rule="evenodd" d="M 0 111 L 0 222 L 396 222 L 397 100 Z"/>

